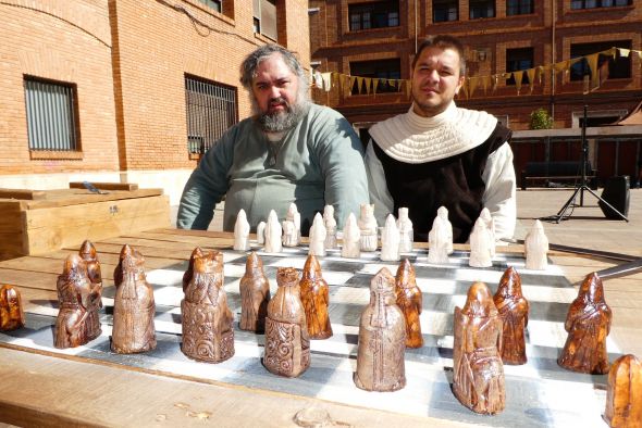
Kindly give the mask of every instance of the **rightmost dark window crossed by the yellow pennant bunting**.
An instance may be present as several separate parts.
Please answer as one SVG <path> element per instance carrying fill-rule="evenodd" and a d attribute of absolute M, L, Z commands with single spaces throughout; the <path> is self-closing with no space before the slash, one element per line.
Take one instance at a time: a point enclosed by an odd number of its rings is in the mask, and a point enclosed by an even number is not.
<path fill-rule="evenodd" d="M 631 40 L 601 41 L 595 43 L 577 43 L 570 46 L 570 58 L 587 56 L 591 53 L 597 53 L 608 50 L 613 47 L 631 49 Z M 608 66 L 606 65 L 608 63 Z M 631 77 L 631 59 L 626 56 L 616 56 L 614 60 L 610 55 L 600 55 L 597 66 L 607 73 L 607 79 L 630 78 Z M 591 76 L 591 68 L 585 59 L 575 63 L 570 68 L 571 80 L 582 80 L 584 76 Z"/>

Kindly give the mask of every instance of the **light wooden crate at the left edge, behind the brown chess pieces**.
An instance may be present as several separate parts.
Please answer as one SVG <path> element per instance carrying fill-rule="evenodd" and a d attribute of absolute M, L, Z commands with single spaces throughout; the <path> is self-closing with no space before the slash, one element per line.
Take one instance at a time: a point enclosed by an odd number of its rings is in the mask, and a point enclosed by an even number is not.
<path fill-rule="evenodd" d="M 162 189 L 0 189 L 0 260 L 169 226 Z"/>

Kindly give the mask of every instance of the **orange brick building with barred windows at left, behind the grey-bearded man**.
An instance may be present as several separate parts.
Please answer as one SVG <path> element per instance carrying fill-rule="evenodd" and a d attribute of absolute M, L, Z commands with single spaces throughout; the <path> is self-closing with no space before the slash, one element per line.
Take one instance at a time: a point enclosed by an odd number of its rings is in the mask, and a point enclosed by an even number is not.
<path fill-rule="evenodd" d="M 276 41 L 309 68 L 303 0 L 0 4 L 0 187 L 162 187 L 250 114 L 243 58 Z"/>

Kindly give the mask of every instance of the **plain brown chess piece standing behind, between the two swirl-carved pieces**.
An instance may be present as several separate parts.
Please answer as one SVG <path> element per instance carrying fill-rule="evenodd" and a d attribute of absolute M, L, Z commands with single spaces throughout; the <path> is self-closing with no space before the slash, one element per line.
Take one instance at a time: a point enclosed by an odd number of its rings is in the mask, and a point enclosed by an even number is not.
<path fill-rule="evenodd" d="M 255 251 L 250 252 L 245 262 L 245 275 L 238 286 L 240 290 L 242 330 L 262 333 L 266 331 L 266 316 L 270 302 L 270 281 L 263 273 L 263 261 Z"/>

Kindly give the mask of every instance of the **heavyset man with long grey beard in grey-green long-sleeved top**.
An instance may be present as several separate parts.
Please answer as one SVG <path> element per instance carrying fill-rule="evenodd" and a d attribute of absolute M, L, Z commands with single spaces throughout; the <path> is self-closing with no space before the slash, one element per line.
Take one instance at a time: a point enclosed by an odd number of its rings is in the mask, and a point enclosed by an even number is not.
<path fill-rule="evenodd" d="M 292 202 L 307 235 L 314 214 L 334 205 L 338 227 L 368 202 L 363 148 L 350 124 L 313 104 L 306 74 L 288 50 L 260 47 L 240 66 L 254 115 L 232 126 L 205 154 L 181 198 L 176 226 L 207 229 L 225 197 L 223 229 L 245 210 L 252 230 Z"/>

